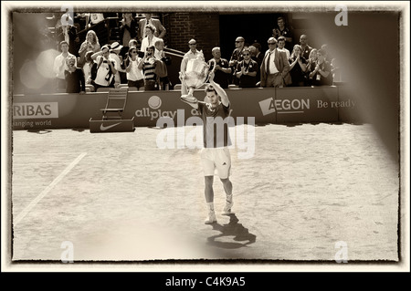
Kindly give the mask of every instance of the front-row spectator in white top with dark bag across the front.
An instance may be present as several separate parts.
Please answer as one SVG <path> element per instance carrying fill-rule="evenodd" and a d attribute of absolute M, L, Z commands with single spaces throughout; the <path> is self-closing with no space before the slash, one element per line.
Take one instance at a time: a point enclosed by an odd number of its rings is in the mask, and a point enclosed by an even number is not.
<path fill-rule="evenodd" d="M 116 62 L 110 57 L 110 47 L 102 46 L 100 52 L 91 58 L 96 62 L 96 76 L 91 76 L 91 85 L 94 88 L 114 88 L 114 77 L 117 73 Z"/>

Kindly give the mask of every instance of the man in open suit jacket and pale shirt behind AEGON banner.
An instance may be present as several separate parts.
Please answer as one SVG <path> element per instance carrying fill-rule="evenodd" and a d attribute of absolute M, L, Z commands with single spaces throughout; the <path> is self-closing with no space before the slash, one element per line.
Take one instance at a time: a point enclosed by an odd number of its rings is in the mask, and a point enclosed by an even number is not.
<path fill-rule="evenodd" d="M 286 53 L 277 49 L 277 40 L 269 37 L 269 50 L 261 64 L 261 87 L 282 88 L 291 84 Z"/>

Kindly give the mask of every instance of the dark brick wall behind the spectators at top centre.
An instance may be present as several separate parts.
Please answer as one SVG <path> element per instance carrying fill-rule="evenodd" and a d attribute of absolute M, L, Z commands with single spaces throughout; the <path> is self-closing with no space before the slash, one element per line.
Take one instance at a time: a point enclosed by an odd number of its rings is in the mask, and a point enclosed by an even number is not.
<path fill-rule="evenodd" d="M 167 47 L 183 52 L 189 50 L 188 41 L 195 38 L 197 49 L 203 50 L 205 59 L 212 57 L 211 49 L 219 46 L 218 13 L 172 13 L 168 15 Z"/>

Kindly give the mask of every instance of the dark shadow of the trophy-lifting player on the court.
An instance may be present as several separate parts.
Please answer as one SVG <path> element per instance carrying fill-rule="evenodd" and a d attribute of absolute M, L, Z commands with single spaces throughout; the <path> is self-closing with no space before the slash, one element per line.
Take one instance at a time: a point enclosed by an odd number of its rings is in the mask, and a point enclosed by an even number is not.
<path fill-rule="evenodd" d="M 221 232 L 207 238 L 207 244 L 225 248 L 225 249 L 237 249 L 240 247 L 246 247 L 248 244 L 254 244 L 257 236 L 250 234 L 248 229 L 243 224 L 238 223 L 236 214 L 230 214 L 230 222 L 228 224 L 221 225 L 220 223 L 213 223 L 213 230 Z M 234 236 L 234 242 L 227 242 L 224 237 Z M 225 240 L 225 241 L 221 241 Z"/>

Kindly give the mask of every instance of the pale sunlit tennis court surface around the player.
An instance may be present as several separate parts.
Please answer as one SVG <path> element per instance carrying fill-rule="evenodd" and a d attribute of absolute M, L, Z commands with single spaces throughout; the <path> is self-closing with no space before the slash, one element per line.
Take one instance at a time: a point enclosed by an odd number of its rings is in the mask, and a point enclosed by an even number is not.
<path fill-rule="evenodd" d="M 199 150 L 159 149 L 160 129 L 13 131 L 13 260 L 60 261 L 64 242 L 75 262 L 335 262 L 338 242 L 348 261 L 398 260 L 399 167 L 371 125 L 254 130 L 252 158 L 231 150 L 236 214 L 212 225 Z"/>

